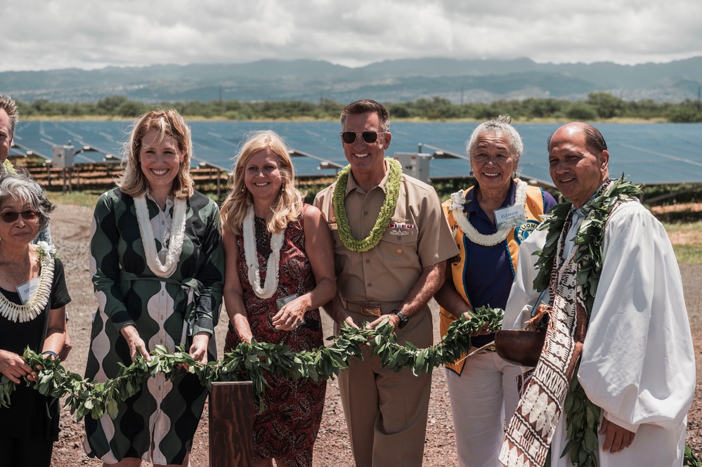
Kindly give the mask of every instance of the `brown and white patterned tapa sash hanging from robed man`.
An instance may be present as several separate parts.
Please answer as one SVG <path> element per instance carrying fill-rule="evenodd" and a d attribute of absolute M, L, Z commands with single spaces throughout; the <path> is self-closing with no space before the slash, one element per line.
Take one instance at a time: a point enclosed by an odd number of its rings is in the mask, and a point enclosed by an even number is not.
<path fill-rule="evenodd" d="M 544 465 L 583 350 L 587 320 L 573 261 L 577 250 L 575 246 L 561 267 L 558 289 L 555 294 L 552 290 L 544 352 L 505 431 L 500 462 L 508 467 Z M 554 268 L 552 284 L 556 274 Z"/>

